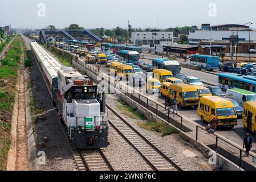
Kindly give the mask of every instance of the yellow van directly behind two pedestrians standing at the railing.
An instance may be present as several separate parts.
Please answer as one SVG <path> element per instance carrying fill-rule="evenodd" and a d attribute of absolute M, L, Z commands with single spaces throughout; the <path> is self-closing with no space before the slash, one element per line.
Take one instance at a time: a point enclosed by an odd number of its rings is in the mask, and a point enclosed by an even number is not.
<path fill-rule="evenodd" d="M 182 109 L 182 107 L 197 107 L 199 96 L 197 94 L 197 89 L 193 85 L 188 84 L 170 84 L 168 87 L 170 100 L 177 98 L 177 104 Z"/>

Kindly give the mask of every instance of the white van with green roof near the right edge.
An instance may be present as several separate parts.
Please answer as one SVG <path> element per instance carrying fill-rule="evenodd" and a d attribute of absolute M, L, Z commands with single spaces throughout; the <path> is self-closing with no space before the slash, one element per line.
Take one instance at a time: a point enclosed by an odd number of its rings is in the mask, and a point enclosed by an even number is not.
<path fill-rule="evenodd" d="M 256 101 L 256 93 L 243 89 L 228 89 L 226 97 L 238 102 L 243 107 L 245 102 Z"/>

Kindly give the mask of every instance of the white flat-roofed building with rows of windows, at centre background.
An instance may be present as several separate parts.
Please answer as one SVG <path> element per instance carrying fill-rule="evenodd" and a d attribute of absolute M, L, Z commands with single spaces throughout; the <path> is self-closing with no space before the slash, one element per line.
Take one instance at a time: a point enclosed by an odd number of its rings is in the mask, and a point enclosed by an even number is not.
<path fill-rule="evenodd" d="M 172 46 L 173 32 L 132 32 L 133 46 Z"/>

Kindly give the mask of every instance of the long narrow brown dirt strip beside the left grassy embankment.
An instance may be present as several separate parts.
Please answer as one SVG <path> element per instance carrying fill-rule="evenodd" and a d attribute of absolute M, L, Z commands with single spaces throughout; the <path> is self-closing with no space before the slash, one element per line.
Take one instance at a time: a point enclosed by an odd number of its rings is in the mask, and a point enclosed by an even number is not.
<path fill-rule="evenodd" d="M 26 100 L 25 100 L 25 68 L 23 67 L 24 52 L 22 47 L 21 71 L 19 73 L 18 121 L 17 121 L 17 160 L 16 170 L 29 170 L 27 148 Z"/>

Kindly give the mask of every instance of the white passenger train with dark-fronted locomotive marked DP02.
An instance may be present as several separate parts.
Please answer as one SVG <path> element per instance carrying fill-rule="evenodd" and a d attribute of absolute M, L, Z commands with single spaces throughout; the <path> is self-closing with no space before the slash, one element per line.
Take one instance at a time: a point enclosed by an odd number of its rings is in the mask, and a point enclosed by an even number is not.
<path fill-rule="evenodd" d="M 72 147 L 107 147 L 109 123 L 103 90 L 72 67 L 64 67 L 38 43 L 30 42 L 30 47 Z"/>

